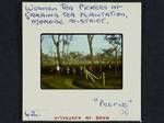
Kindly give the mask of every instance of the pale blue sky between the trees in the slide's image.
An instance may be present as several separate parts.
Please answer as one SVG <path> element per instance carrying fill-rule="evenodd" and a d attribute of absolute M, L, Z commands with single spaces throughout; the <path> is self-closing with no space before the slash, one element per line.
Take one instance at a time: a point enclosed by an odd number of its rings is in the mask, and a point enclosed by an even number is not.
<path fill-rule="evenodd" d="M 43 38 L 43 53 L 51 55 L 56 47 L 54 46 L 51 35 L 42 35 Z M 60 44 L 60 51 L 62 49 Z M 93 54 L 101 53 L 102 49 L 109 48 L 109 44 L 104 41 L 104 35 L 94 35 L 93 37 Z M 87 35 L 73 35 L 69 45 L 69 52 L 79 52 L 82 54 L 90 54 Z"/>

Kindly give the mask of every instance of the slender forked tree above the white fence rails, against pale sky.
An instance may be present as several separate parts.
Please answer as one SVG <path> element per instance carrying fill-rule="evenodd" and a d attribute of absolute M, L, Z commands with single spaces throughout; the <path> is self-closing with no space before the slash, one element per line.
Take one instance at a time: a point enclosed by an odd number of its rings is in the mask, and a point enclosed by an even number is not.
<path fill-rule="evenodd" d="M 90 47 L 90 57 L 91 57 L 92 64 L 93 64 L 93 46 L 92 46 L 93 37 L 94 37 L 94 35 L 87 34 L 87 42 L 89 42 L 89 47 Z"/>

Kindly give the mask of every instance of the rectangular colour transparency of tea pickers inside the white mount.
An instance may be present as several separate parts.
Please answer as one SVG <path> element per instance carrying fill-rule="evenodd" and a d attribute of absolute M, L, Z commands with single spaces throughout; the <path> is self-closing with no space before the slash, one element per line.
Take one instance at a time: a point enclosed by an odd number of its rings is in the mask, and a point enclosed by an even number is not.
<path fill-rule="evenodd" d="M 122 89 L 122 34 L 42 34 L 42 89 Z"/>

